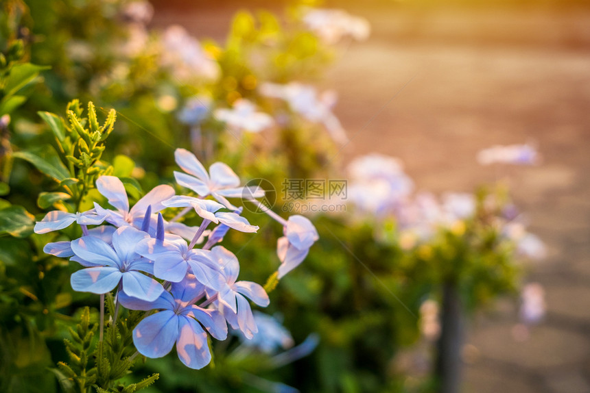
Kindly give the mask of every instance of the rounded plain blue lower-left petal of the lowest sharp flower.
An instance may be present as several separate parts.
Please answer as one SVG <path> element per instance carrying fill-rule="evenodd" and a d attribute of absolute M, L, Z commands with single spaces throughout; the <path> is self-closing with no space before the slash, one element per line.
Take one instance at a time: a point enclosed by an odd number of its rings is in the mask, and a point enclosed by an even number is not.
<path fill-rule="evenodd" d="M 178 316 L 170 310 L 150 315 L 133 329 L 133 344 L 147 357 L 163 357 L 172 351 L 178 337 Z"/>

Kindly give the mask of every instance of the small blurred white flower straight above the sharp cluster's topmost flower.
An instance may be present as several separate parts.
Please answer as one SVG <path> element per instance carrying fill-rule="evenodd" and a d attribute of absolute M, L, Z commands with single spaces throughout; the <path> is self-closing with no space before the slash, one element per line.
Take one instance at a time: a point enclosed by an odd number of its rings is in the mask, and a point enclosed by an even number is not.
<path fill-rule="evenodd" d="M 247 99 L 238 99 L 233 103 L 232 109 L 220 108 L 213 115 L 228 127 L 240 131 L 260 132 L 274 124 L 269 114 L 257 112 L 256 105 Z"/>

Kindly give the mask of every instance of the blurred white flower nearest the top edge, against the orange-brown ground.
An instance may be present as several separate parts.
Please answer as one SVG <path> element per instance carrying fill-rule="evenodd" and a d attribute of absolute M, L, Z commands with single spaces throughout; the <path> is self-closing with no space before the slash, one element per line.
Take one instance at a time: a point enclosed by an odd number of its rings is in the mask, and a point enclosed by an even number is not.
<path fill-rule="evenodd" d="M 310 9 L 305 12 L 303 23 L 328 45 L 346 36 L 366 40 L 370 34 L 370 25 L 365 18 L 352 16 L 344 10 Z"/>

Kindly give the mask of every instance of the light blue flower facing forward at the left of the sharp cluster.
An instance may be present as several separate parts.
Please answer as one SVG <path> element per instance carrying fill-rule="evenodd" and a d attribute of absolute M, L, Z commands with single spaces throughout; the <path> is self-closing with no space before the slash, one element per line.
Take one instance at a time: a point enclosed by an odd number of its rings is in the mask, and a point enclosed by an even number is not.
<path fill-rule="evenodd" d="M 147 233 L 132 227 L 121 227 L 113 233 L 113 246 L 95 236 L 82 236 L 71 242 L 71 250 L 84 266 L 71 275 L 71 286 L 79 292 L 104 294 L 122 283 L 128 296 L 153 301 L 164 288 L 158 281 L 141 272 L 154 273 L 154 264 L 141 257 L 135 248 Z"/>

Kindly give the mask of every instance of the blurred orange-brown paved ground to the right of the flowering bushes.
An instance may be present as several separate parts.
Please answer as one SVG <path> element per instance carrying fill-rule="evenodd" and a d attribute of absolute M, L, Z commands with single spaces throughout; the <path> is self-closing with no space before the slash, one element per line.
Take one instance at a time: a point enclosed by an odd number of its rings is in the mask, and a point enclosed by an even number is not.
<path fill-rule="evenodd" d="M 214 7 L 160 4 L 154 26 L 222 39 L 238 7 Z M 347 9 L 373 34 L 345 43 L 322 81 L 352 139 L 342 157 L 400 157 L 418 189 L 435 192 L 508 176 L 549 246 L 528 277 L 545 287 L 545 322 L 522 341 L 510 305 L 475 318 L 465 392 L 590 392 L 590 12 Z M 538 144 L 541 166 L 498 174 L 475 162 L 484 147 L 523 142 Z"/>

